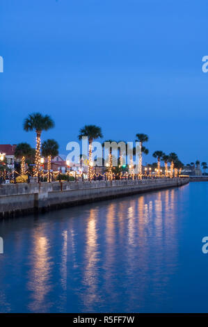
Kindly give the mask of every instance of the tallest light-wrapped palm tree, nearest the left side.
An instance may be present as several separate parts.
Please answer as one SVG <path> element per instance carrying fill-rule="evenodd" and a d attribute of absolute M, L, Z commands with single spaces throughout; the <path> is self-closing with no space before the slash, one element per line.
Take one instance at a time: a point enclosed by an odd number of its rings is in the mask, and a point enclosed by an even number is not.
<path fill-rule="evenodd" d="M 49 115 L 42 115 L 41 113 L 31 113 L 23 124 L 25 131 L 36 132 L 36 150 L 35 150 L 35 174 L 38 174 L 40 168 L 40 136 L 42 131 L 47 131 L 54 127 L 54 120 Z"/>

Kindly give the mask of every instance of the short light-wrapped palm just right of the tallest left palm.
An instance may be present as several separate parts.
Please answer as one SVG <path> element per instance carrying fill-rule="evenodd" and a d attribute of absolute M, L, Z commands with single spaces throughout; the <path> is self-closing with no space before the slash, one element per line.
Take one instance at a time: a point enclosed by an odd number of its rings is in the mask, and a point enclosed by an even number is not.
<path fill-rule="evenodd" d="M 51 182 L 51 158 L 58 156 L 58 143 L 49 139 L 42 143 L 42 155 L 43 157 L 47 157 L 47 182 Z"/>

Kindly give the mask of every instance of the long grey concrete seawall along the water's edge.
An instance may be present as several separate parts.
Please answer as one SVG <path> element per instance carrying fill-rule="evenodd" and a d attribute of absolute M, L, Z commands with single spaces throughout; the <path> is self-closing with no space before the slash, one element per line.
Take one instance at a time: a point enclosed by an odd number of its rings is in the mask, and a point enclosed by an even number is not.
<path fill-rule="evenodd" d="M 1 184 L 0 218 L 45 212 L 86 202 L 167 189 L 189 183 L 189 178 Z"/>

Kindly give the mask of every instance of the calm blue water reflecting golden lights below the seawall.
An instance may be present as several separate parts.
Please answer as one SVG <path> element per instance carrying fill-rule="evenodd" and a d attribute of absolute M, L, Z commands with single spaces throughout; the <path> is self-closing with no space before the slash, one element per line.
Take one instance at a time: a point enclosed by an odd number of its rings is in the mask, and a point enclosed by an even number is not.
<path fill-rule="evenodd" d="M 0 312 L 208 312 L 208 183 L 0 222 Z"/>

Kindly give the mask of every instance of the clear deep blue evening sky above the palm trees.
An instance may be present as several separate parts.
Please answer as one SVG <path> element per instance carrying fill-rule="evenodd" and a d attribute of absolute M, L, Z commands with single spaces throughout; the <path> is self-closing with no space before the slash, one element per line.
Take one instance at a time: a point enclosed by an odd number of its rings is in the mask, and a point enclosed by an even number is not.
<path fill-rule="evenodd" d="M 86 124 L 104 139 L 208 161 L 207 0 L 1 0 L 0 143 L 27 141 L 22 121 L 49 113 L 61 153 Z"/>

